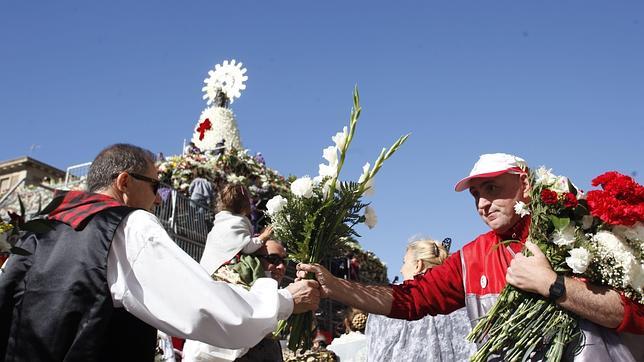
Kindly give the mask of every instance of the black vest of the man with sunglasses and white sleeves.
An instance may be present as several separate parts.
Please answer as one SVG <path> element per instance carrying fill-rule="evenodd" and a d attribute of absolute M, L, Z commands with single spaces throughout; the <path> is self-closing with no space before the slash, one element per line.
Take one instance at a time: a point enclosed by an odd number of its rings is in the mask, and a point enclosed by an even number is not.
<path fill-rule="evenodd" d="M 52 222 L 30 234 L 0 276 L 0 361 L 153 361 L 156 330 L 114 308 L 107 255 L 123 218 L 116 207 L 80 231 Z"/>

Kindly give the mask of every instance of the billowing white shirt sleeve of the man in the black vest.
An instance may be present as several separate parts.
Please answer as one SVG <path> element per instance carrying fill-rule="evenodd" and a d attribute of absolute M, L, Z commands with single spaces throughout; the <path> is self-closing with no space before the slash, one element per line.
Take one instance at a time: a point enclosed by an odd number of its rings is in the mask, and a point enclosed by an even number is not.
<path fill-rule="evenodd" d="M 212 280 L 143 210 L 117 229 L 107 279 L 115 307 L 167 334 L 226 348 L 254 346 L 293 311 L 275 280 L 258 279 L 250 291 Z"/>

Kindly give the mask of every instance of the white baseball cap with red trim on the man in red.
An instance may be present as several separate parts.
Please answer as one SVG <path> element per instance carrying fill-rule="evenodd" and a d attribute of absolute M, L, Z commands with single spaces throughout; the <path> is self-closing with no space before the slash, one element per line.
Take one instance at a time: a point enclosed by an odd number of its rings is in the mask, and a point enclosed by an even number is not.
<path fill-rule="evenodd" d="M 481 155 L 476 161 L 470 175 L 459 181 L 454 190 L 461 192 L 470 188 L 470 180 L 474 178 L 496 177 L 504 173 L 525 173 L 528 164 L 521 157 L 507 153 L 488 153 Z"/>

